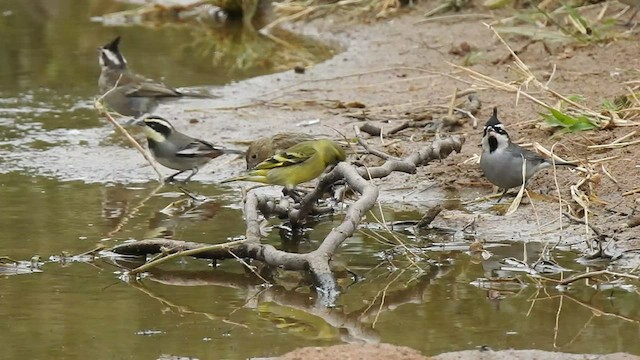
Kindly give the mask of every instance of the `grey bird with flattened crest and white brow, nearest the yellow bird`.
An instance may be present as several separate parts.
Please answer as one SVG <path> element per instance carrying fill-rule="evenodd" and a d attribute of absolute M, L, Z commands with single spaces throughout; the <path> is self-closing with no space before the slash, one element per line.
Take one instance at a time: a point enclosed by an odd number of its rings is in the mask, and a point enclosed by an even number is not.
<path fill-rule="evenodd" d="M 149 150 L 156 161 L 178 171 L 166 178 L 165 182 L 172 182 L 177 175 L 191 170 L 191 174 L 184 179 L 187 182 L 198 173 L 200 167 L 223 154 L 244 155 L 244 151 L 227 149 L 183 134 L 160 116 L 147 116 L 136 121 L 136 124 L 143 127 Z"/>

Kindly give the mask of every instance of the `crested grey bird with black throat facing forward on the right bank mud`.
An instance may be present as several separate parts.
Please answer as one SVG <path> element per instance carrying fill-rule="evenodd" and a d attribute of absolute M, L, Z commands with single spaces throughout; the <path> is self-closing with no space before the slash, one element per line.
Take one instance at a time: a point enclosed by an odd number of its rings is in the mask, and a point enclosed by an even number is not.
<path fill-rule="evenodd" d="M 482 136 L 482 156 L 480 167 L 484 176 L 494 185 L 507 190 L 522 185 L 522 166 L 526 160 L 525 185 L 537 172 L 553 165 L 549 159 L 514 144 L 504 125 L 498 120 L 498 109 L 493 108 L 493 114 L 484 126 Z M 556 161 L 558 166 L 576 167 L 574 164 Z"/>

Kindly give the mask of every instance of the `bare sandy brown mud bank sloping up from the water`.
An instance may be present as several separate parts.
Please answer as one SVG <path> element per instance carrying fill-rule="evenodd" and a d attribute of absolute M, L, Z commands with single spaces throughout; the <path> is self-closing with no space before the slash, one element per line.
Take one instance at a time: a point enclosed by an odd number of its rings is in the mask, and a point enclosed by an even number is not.
<path fill-rule="evenodd" d="M 481 53 L 471 66 L 475 71 L 505 81 L 517 79 L 510 71 L 513 69 L 510 60 L 495 64 L 497 60 L 508 59 L 509 53 L 482 24 L 490 19 L 471 16 L 450 21 L 421 22 L 424 19 L 422 14 L 429 8 L 430 3 L 423 3 L 392 19 L 371 24 L 362 24 L 361 21 L 354 23 L 336 16 L 295 24 L 297 31 L 336 41 L 346 50 L 327 62 L 306 69 L 304 74 L 291 70 L 226 86 L 220 90 L 222 98 L 216 100 L 210 109 L 201 109 L 203 102 L 186 104 L 191 111 L 174 114 L 178 126 L 187 128 L 190 133 L 200 133 L 205 138 L 215 134 L 215 137 L 229 142 L 250 140 L 279 131 L 336 136 L 336 129 L 353 137 L 353 126 L 362 125 L 364 120 L 386 131 L 426 110 L 433 112 L 434 106 L 448 106 L 449 96 L 455 89 L 469 87 L 465 82 L 442 75 L 454 73 L 449 63 L 462 63 L 461 56 L 455 53 L 465 47 Z M 468 9 L 465 12 L 486 14 L 483 9 Z M 504 12 L 495 15 L 494 19 L 511 14 Z M 637 34 L 606 45 L 565 48 L 553 44 L 545 46 L 541 42 L 524 47 L 528 42 L 524 38 L 508 37 L 507 41 L 512 48 L 521 49 L 521 59 L 541 81 L 546 81 L 553 65 L 556 65 L 551 87 L 564 95 L 582 95 L 585 105 L 590 108 L 597 109 L 602 100 L 626 93 L 629 85 L 625 85 L 625 82 L 638 79 L 634 71 L 640 68 Z M 455 75 L 470 80 L 460 72 Z M 544 95 L 536 93 L 536 89 L 529 91 L 544 98 Z M 464 202 L 489 195 L 491 184 L 483 178 L 479 167 L 464 162 L 480 153 L 482 126 L 491 109 L 497 106 L 501 120 L 517 142 L 539 142 L 547 149 L 558 142 L 556 153 L 583 163 L 616 156 L 603 164 L 617 183 L 603 173 L 601 164 L 592 165 L 600 175 L 599 181 L 590 185 L 592 198 L 589 210 L 592 215 L 589 220 L 599 226 L 608 239 L 615 239 L 614 246 L 608 248 L 610 252 L 638 247 L 640 227 L 629 228 L 627 221 L 640 202 L 640 194 L 622 194 L 640 184 L 640 169 L 637 167 L 640 144 L 602 152 L 587 148 L 588 145 L 609 143 L 637 129 L 637 126 L 574 133 L 551 139 L 549 131 L 539 128 L 542 121 L 538 112 L 543 109 L 531 101 L 521 97 L 516 103 L 515 94 L 493 89 L 479 89 L 477 95 L 483 103 L 477 114 L 478 127 L 473 128 L 467 123 L 455 129 L 456 133 L 463 133 L 467 139 L 462 153 L 429 164 L 415 175 L 392 174 L 377 181 L 381 188 L 381 201 L 394 205 L 410 203 L 420 207 L 442 202 L 445 196 Z M 547 101 L 555 102 L 550 99 Z M 360 104 L 365 108 L 360 108 Z M 436 111 L 434 116 L 442 116 L 444 111 Z M 191 118 L 201 121 L 184 121 Z M 319 120 L 319 123 L 297 125 L 310 120 Z M 422 129 L 407 129 L 393 137 L 386 137 L 384 144 L 379 138 L 370 138 L 368 141 L 387 152 L 402 156 L 428 144 L 433 137 L 433 134 Z M 635 137 L 629 140 L 633 139 Z M 372 164 L 376 162 L 375 158 L 371 159 Z M 240 160 L 232 162 L 231 166 L 218 164 L 217 173 L 211 175 L 211 181 L 237 173 L 244 166 Z M 581 176 L 578 172 L 566 169 L 557 171 L 562 199 L 574 210 L 579 206 L 571 200 L 569 186 L 577 183 Z M 439 186 L 430 187 L 433 183 Z M 574 247 L 584 250 L 584 240 L 592 237 L 593 233 L 587 231 L 588 235 L 585 236 L 584 225 L 569 225 L 564 218 L 560 223 L 553 172 L 547 170 L 541 173 L 533 179 L 529 188 L 548 196 L 546 199 L 535 197 L 533 206 L 522 205 L 514 215 L 507 217 L 498 215 L 496 209 L 492 208 L 493 200 L 474 203 L 463 209 L 451 208 L 441 214 L 435 225 L 462 227 L 475 219 L 476 235 L 483 241 L 515 239 L 555 242 L 562 237 L 567 242 L 577 244 Z M 442 190 L 447 193 L 443 194 Z M 597 199 L 603 202 L 598 203 Z M 503 200 L 503 203 L 508 202 Z M 631 252 L 626 253 L 618 264 L 626 260 L 634 263 L 632 256 Z"/>

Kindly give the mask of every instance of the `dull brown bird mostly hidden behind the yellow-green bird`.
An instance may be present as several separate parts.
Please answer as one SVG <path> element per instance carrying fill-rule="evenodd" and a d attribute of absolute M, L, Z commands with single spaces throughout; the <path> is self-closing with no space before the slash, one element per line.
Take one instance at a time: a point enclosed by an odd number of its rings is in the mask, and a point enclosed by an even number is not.
<path fill-rule="evenodd" d="M 247 148 L 247 170 L 253 169 L 269 157 L 295 144 L 310 140 L 313 140 L 313 136 L 295 132 L 284 132 L 256 139 Z"/>

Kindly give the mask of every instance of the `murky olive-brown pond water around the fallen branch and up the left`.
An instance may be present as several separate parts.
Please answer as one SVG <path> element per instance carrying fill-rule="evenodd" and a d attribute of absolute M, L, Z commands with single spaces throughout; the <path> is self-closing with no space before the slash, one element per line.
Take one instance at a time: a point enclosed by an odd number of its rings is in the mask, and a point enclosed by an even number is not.
<path fill-rule="evenodd" d="M 171 216 L 160 210 L 183 198 L 177 188 L 158 189 L 143 176 L 131 185 L 126 174 L 111 176 L 105 165 L 111 159 L 97 163 L 93 177 L 75 174 L 72 162 L 66 169 L 47 166 L 89 151 L 120 154 L 122 147 L 109 140 L 110 128 L 90 106 L 98 75 L 95 47 L 105 39 L 123 35 L 127 56 L 138 64 L 156 54 L 138 68 L 176 86 L 235 79 L 210 64 L 183 69 L 185 55 L 175 49 L 192 39 L 175 27 L 107 28 L 88 20 L 125 8 L 103 0 L 0 0 L 0 256 L 26 261 L 17 268 L 0 266 L 1 359 L 245 359 L 299 346 L 377 341 L 425 354 L 485 345 L 640 354 L 637 289 L 597 290 L 584 281 L 569 289 L 538 286 L 498 263 L 522 259 L 523 244 L 500 244 L 489 248 L 491 257 L 478 259 L 434 247 L 460 240 L 459 234 L 415 236 L 398 228 L 397 239 L 420 255 L 408 260 L 405 248 L 377 230 L 373 217 L 335 258 L 343 295 L 332 309 L 317 305 L 294 273 L 279 273 L 279 285 L 265 287 L 237 262 L 214 269 L 205 261 L 184 260 L 134 281 L 123 271 L 134 259 L 72 257 L 132 239 L 218 243 L 244 231 L 237 194 L 215 186 L 190 185 L 214 201 Z M 166 41 L 149 42 L 151 36 Z M 268 70 L 248 70 L 245 76 L 261 72 Z M 77 148 L 83 152 L 69 152 Z M 105 174 L 124 180 L 99 181 Z M 389 222 L 419 217 L 385 213 Z M 266 241 L 308 251 L 339 218 L 310 224 L 313 230 L 298 241 L 283 240 L 286 229 L 273 227 Z M 539 253 L 538 244 L 527 245 L 530 263 Z M 585 270 L 575 257 L 560 252 L 556 260 Z M 361 281 L 354 283 L 345 266 Z M 514 276 L 522 284 L 482 281 Z"/>

